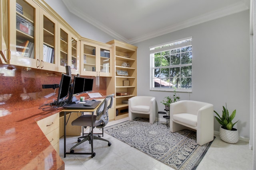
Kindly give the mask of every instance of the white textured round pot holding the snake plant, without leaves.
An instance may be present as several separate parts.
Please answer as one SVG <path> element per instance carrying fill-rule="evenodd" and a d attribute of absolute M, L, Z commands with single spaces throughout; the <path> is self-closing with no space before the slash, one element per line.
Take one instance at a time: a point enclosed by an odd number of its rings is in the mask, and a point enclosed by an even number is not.
<path fill-rule="evenodd" d="M 237 143 L 239 139 L 238 130 L 232 128 L 230 131 L 223 129 L 222 126 L 220 126 L 220 139 L 226 143 Z"/>

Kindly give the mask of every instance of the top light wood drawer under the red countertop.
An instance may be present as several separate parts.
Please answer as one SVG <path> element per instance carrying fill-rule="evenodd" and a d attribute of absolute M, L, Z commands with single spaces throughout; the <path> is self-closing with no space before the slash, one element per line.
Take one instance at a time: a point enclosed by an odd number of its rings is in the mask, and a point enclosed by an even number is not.
<path fill-rule="evenodd" d="M 38 121 L 37 124 L 44 133 L 44 135 L 46 135 L 60 126 L 59 113 L 46 117 Z"/>

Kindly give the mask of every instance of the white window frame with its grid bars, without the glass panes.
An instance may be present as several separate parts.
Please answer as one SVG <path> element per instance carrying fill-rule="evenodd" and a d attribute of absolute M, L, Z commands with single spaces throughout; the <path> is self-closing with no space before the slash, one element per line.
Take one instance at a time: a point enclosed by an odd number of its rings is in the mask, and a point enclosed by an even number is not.
<path fill-rule="evenodd" d="M 188 41 L 185 41 L 185 40 L 188 40 Z M 185 42 L 180 43 L 180 41 L 185 41 Z M 157 67 L 154 66 L 154 64 L 155 64 L 154 63 L 154 59 L 155 59 L 154 54 L 155 53 L 168 51 L 168 50 L 171 51 L 172 49 L 178 49 L 178 48 L 188 47 L 188 46 L 191 46 L 191 53 L 192 53 L 192 37 L 186 37 L 183 39 L 171 41 L 169 43 L 162 43 L 160 45 L 154 45 L 149 48 L 150 49 L 150 90 L 152 90 L 152 91 L 167 91 L 167 92 L 170 92 L 170 91 L 172 92 L 172 91 L 176 90 L 176 92 L 192 92 L 192 77 L 193 77 L 192 76 L 192 59 L 193 59 L 193 57 L 191 59 L 191 63 L 181 64 L 181 61 L 180 61 L 180 64 L 176 64 L 176 65 L 169 64 L 168 66 L 157 66 Z M 180 54 L 181 53 L 182 52 L 180 51 Z M 180 59 L 181 59 L 181 56 L 180 56 Z M 154 70 L 156 68 L 159 68 L 159 69 L 161 69 L 161 68 L 179 68 L 180 69 L 179 78 L 182 78 L 181 68 L 183 66 L 191 66 L 191 76 L 188 76 L 189 78 L 191 78 L 191 88 L 171 88 L 171 86 L 169 86 L 168 88 L 154 87 L 154 83 L 155 83 L 154 82 L 154 79 L 155 79 Z M 170 77 L 168 77 L 168 78 L 170 78 Z"/>

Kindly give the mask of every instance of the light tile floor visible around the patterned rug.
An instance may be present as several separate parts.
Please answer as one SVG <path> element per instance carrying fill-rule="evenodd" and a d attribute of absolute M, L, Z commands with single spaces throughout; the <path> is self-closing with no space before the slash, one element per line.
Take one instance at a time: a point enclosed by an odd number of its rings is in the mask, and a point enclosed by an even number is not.
<path fill-rule="evenodd" d="M 128 118 L 111 121 L 108 126 L 126 121 Z M 248 143 L 238 141 L 236 144 L 223 142 L 215 135 L 211 147 L 196 170 L 252 170 L 252 150 Z M 169 166 L 151 158 L 133 147 L 104 133 L 105 141 L 94 140 L 94 158 L 91 155 L 67 154 L 64 158 L 64 139 L 60 139 L 60 157 L 65 162 L 65 170 L 172 170 Z M 66 149 L 70 150 L 77 142 L 77 137 L 67 137 Z M 88 142 L 75 148 L 76 152 L 90 152 Z"/>

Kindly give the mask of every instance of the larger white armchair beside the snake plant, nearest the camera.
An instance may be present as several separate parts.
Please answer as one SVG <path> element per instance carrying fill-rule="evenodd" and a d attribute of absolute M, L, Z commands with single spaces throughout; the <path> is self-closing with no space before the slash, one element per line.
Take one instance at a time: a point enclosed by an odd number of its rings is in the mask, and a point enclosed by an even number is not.
<path fill-rule="evenodd" d="M 205 102 L 182 100 L 170 104 L 170 131 L 196 130 L 196 143 L 204 145 L 214 139 L 213 105 Z"/>

